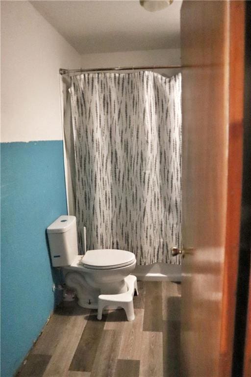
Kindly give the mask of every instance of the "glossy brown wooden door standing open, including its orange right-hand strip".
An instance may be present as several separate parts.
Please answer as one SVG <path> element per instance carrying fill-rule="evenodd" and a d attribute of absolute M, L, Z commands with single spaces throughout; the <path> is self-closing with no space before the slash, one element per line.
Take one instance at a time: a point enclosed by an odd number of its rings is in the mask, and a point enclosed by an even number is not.
<path fill-rule="evenodd" d="M 230 377 L 242 175 L 243 1 L 181 8 L 184 377 Z"/>

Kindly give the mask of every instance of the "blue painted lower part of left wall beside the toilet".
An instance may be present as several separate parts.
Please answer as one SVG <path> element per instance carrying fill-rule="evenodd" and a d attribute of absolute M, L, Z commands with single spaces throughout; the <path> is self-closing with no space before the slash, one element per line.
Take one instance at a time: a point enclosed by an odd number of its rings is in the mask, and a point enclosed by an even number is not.
<path fill-rule="evenodd" d="M 63 142 L 1 144 L 1 377 L 12 377 L 54 306 L 46 228 L 67 213 Z"/>

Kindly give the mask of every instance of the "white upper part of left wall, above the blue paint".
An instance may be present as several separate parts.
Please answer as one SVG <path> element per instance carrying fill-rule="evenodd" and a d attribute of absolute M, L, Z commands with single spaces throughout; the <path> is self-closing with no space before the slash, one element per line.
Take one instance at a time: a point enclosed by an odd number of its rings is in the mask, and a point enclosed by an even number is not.
<path fill-rule="evenodd" d="M 28 1 L 1 1 L 1 141 L 62 139 L 59 68 L 80 55 Z"/>

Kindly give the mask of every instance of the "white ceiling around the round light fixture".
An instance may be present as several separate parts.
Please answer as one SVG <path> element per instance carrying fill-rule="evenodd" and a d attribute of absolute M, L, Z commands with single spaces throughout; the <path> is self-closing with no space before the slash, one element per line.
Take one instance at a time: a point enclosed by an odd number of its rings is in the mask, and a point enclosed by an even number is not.
<path fill-rule="evenodd" d="M 80 54 L 179 47 L 180 6 L 148 12 L 138 0 L 30 1 Z"/>

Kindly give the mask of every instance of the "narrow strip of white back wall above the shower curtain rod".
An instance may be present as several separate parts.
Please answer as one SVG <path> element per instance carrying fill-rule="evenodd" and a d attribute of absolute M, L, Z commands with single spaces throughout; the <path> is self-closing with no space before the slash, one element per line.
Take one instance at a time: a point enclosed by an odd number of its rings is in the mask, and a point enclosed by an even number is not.
<path fill-rule="evenodd" d="M 81 55 L 82 68 L 106 68 L 126 66 L 179 65 L 180 49 L 126 51 L 106 54 Z M 180 70 L 160 70 L 170 76 Z M 157 71 L 156 71 L 157 72 Z"/>

